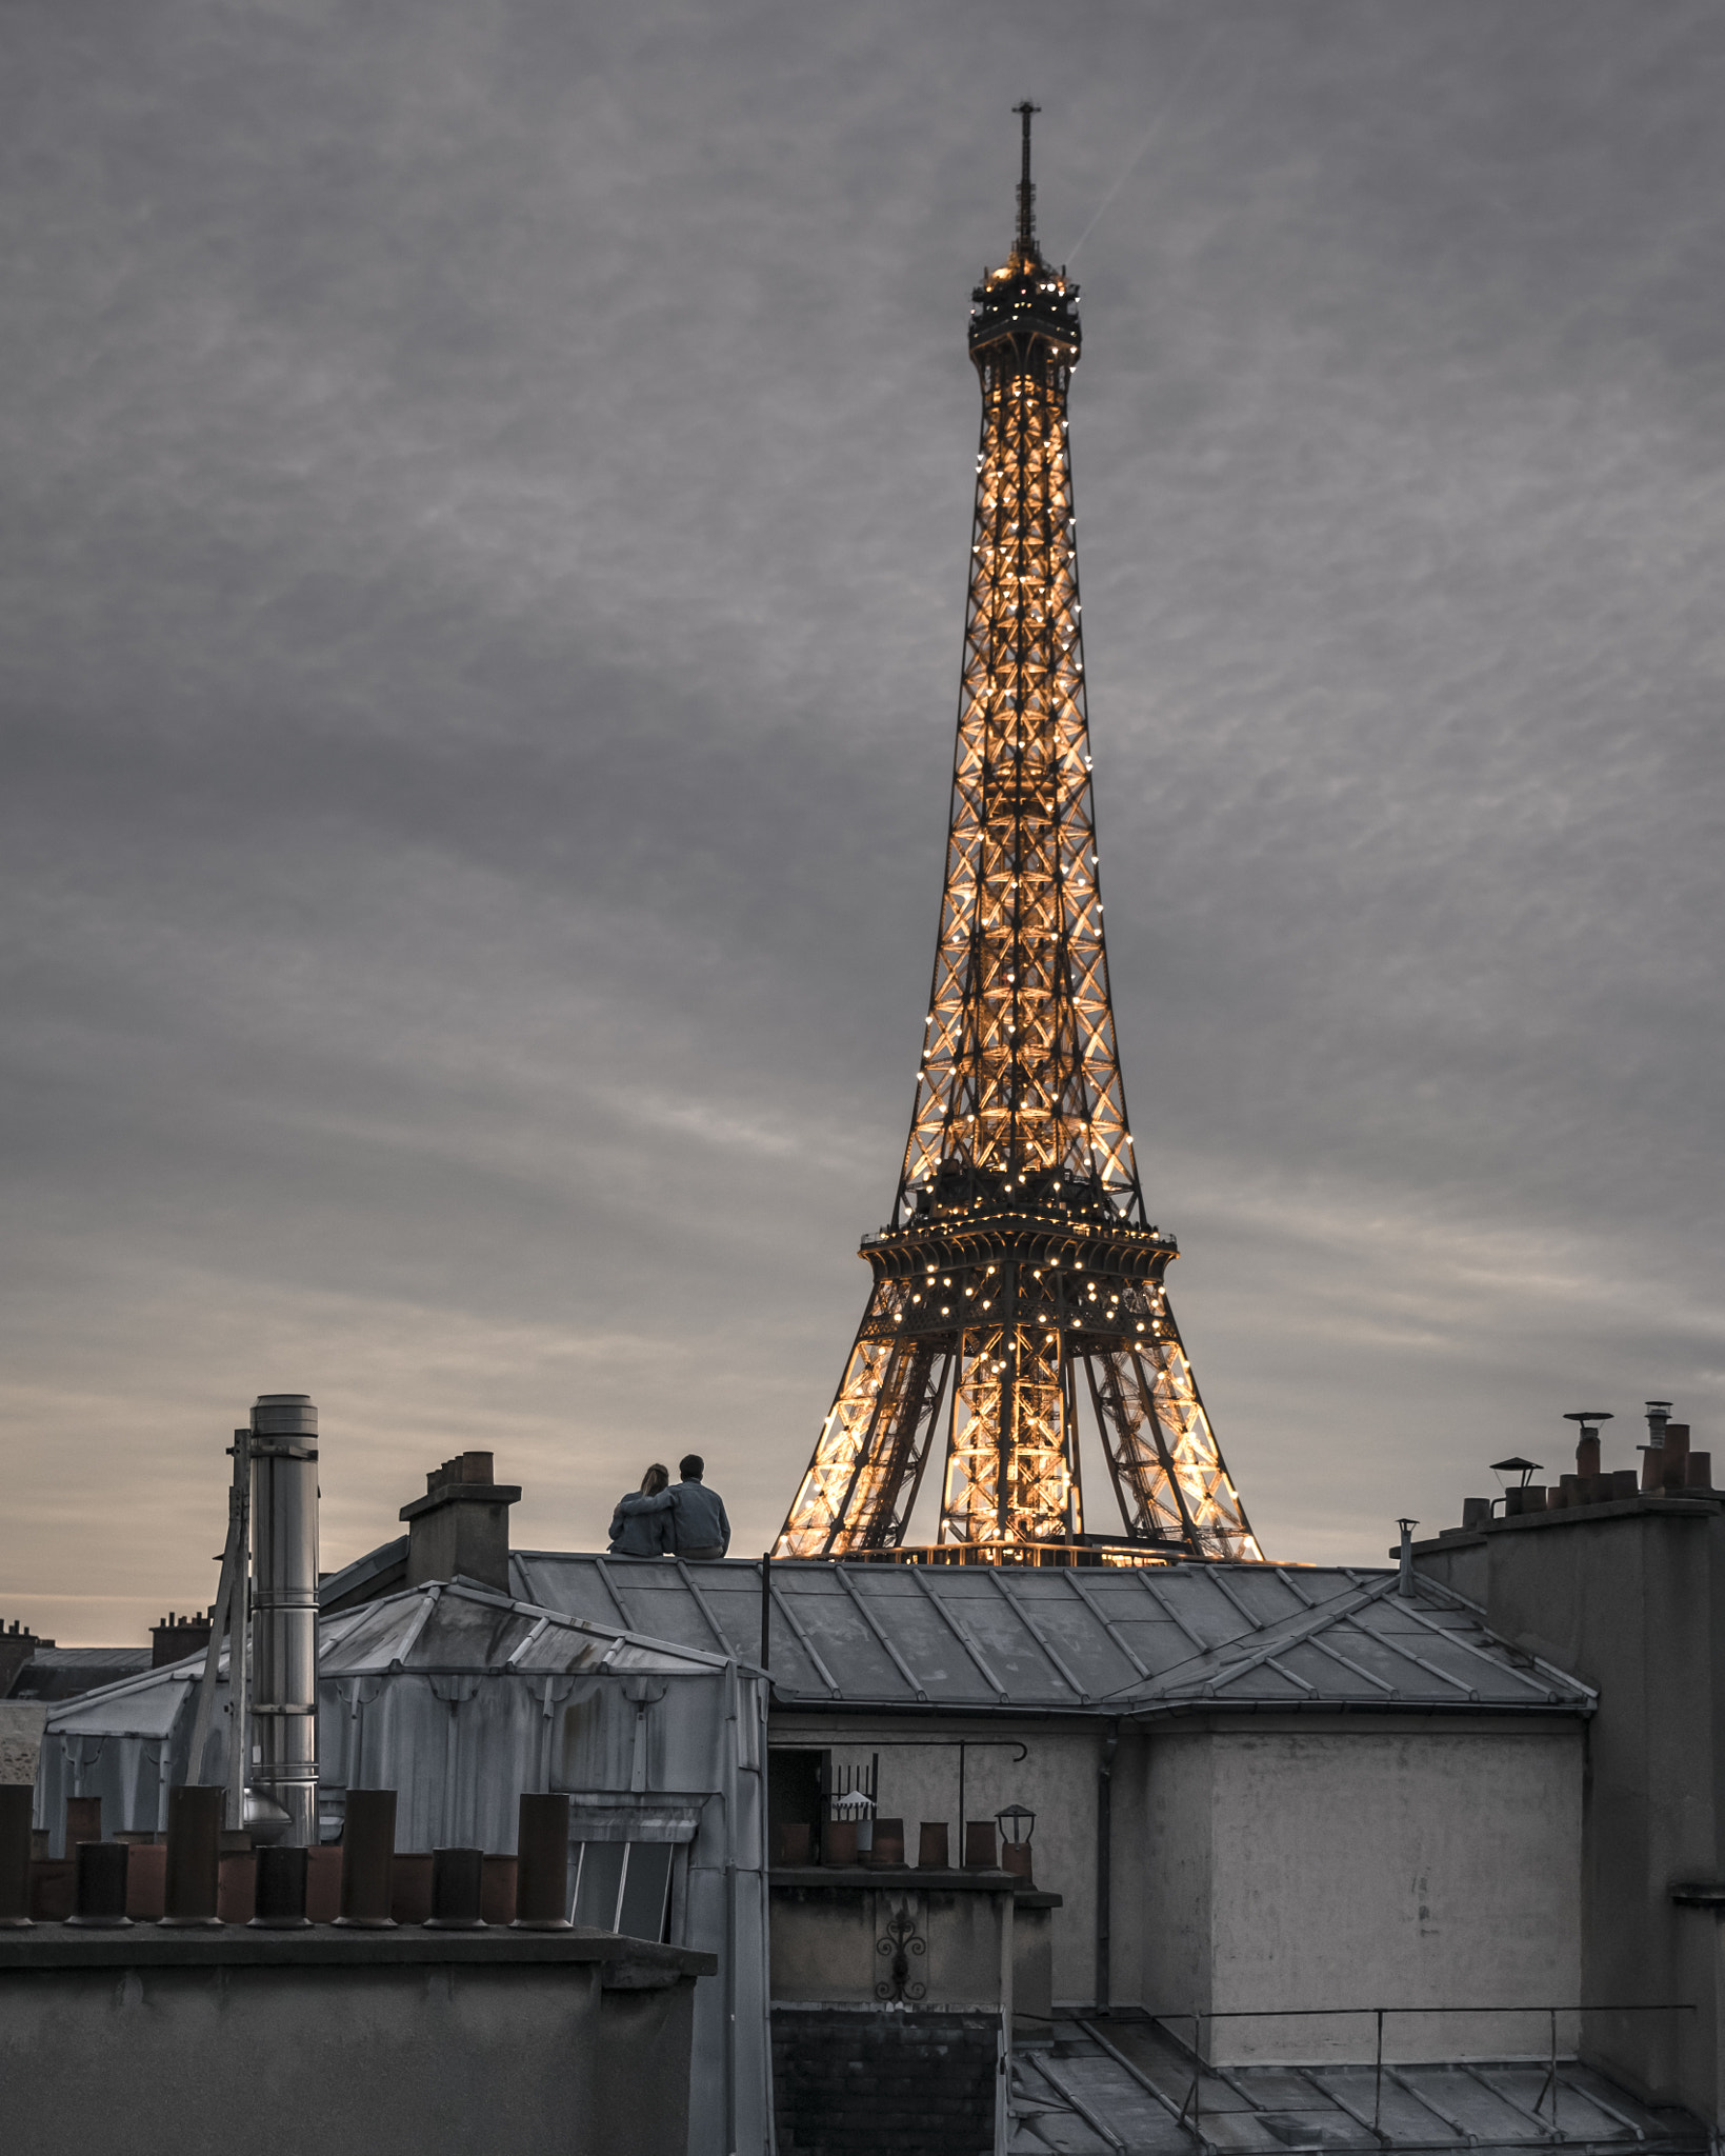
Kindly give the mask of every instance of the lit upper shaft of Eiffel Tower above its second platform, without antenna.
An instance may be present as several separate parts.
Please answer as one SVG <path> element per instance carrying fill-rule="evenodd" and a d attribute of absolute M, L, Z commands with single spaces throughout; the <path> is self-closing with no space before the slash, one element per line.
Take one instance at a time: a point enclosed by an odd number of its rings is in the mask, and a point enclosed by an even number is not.
<path fill-rule="evenodd" d="M 983 418 L 947 882 L 895 1218 L 953 1162 L 1095 1181 L 1143 1218 L 1078 630 L 1076 287 L 1016 250 L 977 298 Z"/>

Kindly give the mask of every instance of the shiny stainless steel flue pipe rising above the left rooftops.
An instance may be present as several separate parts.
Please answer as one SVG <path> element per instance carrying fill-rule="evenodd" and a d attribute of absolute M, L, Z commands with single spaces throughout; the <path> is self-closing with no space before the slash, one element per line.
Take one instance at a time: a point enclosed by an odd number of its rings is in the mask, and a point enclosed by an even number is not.
<path fill-rule="evenodd" d="M 252 1770 L 287 1813 L 282 1841 L 317 1841 L 317 1408 L 263 1393 L 252 1408 Z"/>

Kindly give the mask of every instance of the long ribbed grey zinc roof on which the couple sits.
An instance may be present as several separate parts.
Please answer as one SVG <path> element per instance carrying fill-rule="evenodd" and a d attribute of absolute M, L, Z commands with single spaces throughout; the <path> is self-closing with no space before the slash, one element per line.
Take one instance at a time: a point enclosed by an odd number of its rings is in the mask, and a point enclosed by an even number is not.
<path fill-rule="evenodd" d="M 543 1608 L 761 1658 L 759 1561 L 518 1550 Z M 1350 1565 L 772 1565 L 781 1701 L 983 1712 L 1179 1708 L 1589 1712 L 1593 1692 L 1434 1580 Z"/>

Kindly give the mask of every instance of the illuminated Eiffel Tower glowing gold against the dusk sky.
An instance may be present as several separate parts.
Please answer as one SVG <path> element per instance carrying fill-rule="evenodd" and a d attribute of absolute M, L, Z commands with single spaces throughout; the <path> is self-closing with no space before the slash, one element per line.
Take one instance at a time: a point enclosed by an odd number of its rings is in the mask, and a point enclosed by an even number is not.
<path fill-rule="evenodd" d="M 1067 390 L 1078 287 L 1018 237 L 970 306 L 983 395 L 934 990 L 893 1222 L 778 1557 L 1259 1557 L 1145 1216 L 1102 940 Z M 1123 1535 L 1087 1535 L 1080 1404 Z M 938 1544 L 906 1531 L 947 1429 Z"/>

